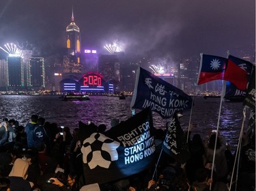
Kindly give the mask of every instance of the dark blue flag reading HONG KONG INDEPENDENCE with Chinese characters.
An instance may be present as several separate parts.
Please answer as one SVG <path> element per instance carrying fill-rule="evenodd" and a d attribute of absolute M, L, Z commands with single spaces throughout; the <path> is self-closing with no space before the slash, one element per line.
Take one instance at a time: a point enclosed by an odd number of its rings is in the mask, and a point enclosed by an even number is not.
<path fill-rule="evenodd" d="M 190 109 L 192 97 L 165 82 L 160 77 L 139 67 L 130 107 L 144 109 L 150 107 L 162 118 L 171 118 L 177 111 Z"/>

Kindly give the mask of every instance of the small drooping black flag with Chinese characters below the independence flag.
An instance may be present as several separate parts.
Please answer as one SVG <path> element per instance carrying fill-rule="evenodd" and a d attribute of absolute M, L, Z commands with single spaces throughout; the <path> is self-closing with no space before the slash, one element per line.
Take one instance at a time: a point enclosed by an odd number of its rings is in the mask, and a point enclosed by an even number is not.
<path fill-rule="evenodd" d="M 162 150 L 182 164 L 190 158 L 190 152 L 177 114 L 173 114 L 172 120 L 167 123 L 167 134 L 162 143 Z"/>

